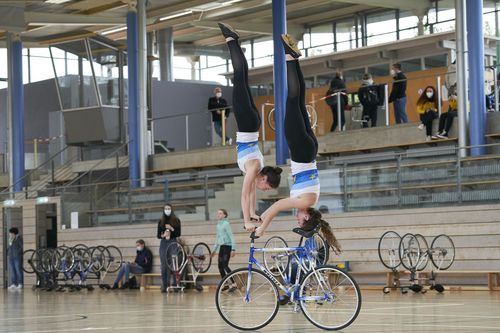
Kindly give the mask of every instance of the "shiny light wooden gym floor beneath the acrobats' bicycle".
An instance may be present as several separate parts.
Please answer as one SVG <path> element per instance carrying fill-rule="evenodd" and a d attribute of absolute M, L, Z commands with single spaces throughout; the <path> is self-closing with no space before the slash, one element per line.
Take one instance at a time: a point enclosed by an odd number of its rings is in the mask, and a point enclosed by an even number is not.
<path fill-rule="evenodd" d="M 234 332 L 220 319 L 214 291 L 169 293 L 0 291 L 0 332 Z M 344 332 L 500 332 L 500 292 L 427 294 L 363 291 Z M 302 313 L 281 307 L 262 332 L 318 332 Z"/>

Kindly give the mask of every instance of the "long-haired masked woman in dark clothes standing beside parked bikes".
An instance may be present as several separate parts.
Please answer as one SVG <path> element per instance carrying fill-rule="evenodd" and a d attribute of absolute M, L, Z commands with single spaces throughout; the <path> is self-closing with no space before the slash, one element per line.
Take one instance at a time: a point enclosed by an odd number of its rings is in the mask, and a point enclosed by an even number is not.
<path fill-rule="evenodd" d="M 170 286 L 170 269 L 167 265 L 167 247 L 181 236 L 181 221 L 175 216 L 172 206 L 166 204 L 163 207 L 163 214 L 158 221 L 158 231 L 156 236 L 160 241 L 160 264 L 161 264 L 161 292 L 165 293 Z M 172 279 L 174 276 L 172 275 Z"/>

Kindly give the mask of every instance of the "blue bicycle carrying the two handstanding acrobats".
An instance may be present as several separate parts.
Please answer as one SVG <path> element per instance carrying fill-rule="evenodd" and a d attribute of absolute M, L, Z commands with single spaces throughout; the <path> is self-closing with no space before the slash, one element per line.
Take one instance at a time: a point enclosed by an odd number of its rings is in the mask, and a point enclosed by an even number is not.
<path fill-rule="evenodd" d="M 304 238 L 311 238 L 316 232 L 300 228 L 293 231 Z M 295 311 L 302 310 L 304 316 L 321 329 L 340 330 L 354 322 L 361 309 L 361 292 L 348 273 L 334 266 L 317 266 L 315 251 L 307 245 L 256 248 L 257 237 L 252 233 L 250 238 L 248 267 L 232 271 L 217 287 L 215 303 L 226 323 L 239 330 L 257 330 L 269 324 L 278 313 L 278 288 L 294 304 Z M 280 282 L 276 272 L 254 257 L 256 252 L 278 253 L 278 260 L 282 260 L 284 254 L 289 257 L 290 260 L 282 261 L 295 265 L 293 281 L 291 274 L 280 274 L 283 283 Z"/>

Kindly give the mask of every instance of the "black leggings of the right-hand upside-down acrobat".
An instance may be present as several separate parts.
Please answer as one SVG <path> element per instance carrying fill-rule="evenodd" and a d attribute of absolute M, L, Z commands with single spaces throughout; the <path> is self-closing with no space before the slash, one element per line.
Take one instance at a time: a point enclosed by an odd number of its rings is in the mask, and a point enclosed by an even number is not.
<path fill-rule="evenodd" d="M 318 154 L 318 141 L 314 135 L 305 102 L 304 76 L 298 60 L 286 62 L 288 96 L 286 99 L 285 137 L 292 161 L 310 163 Z"/>

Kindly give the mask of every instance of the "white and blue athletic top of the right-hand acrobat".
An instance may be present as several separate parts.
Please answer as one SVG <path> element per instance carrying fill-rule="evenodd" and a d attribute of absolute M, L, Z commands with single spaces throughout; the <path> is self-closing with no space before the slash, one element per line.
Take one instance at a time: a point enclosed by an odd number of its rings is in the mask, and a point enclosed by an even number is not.
<path fill-rule="evenodd" d="M 296 198 L 301 194 L 314 193 L 316 194 L 316 202 L 314 205 L 316 205 L 320 192 L 316 161 L 311 163 L 298 163 L 292 161 L 292 177 L 293 182 L 290 188 L 290 197 Z"/>

